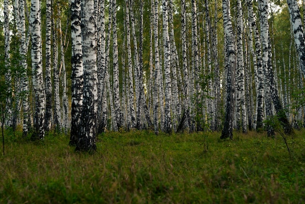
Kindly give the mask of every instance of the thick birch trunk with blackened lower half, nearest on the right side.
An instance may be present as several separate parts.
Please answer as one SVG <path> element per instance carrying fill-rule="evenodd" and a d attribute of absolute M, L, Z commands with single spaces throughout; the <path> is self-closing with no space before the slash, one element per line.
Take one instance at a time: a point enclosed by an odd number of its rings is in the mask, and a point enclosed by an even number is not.
<path fill-rule="evenodd" d="M 224 30 L 226 40 L 226 63 L 227 74 L 227 107 L 224 128 L 220 139 L 233 138 L 233 116 L 234 116 L 234 89 L 235 89 L 235 49 L 234 49 L 234 35 L 230 14 L 230 1 L 223 0 L 223 15 L 224 15 Z"/>

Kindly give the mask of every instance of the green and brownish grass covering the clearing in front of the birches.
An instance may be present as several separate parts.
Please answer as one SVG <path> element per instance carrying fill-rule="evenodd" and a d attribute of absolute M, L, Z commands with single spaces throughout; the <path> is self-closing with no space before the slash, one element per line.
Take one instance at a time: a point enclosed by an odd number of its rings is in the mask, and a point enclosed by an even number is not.
<path fill-rule="evenodd" d="M 107 132 L 93 155 L 68 136 L 6 133 L 0 203 L 305 203 L 304 135 L 287 139 L 290 159 L 279 135 L 256 132 Z"/>

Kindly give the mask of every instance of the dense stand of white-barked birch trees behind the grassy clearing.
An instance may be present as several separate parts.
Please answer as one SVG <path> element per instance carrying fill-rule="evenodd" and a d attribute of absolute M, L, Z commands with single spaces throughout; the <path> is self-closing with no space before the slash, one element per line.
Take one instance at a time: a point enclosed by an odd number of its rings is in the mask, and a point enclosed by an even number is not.
<path fill-rule="evenodd" d="M 22 127 L 24 136 L 30 132 L 38 138 L 44 131 L 71 131 L 70 143 L 76 144 L 81 131 L 224 132 L 229 130 L 229 111 L 230 129 L 245 133 L 265 128 L 272 135 L 270 120 L 276 120 L 275 115 L 293 128 L 305 126 L 303 56 L 287 2 L 92 3 L 90 18 L 77 0 L 1 3 L 2 128 Z M 35 8 L 40 8 L 37 13 Z M 300 8 L 302 19 L 304 7 Z M 82 30 L 78 44 L 77 26 Z M 40 28 L 40 45 L 34 28 Z M 95 35 L 92 46 L 84 43 L 90 30 Z M 82 56 L 76 53 L 88 58 L 91 47 L 93 64 L 85 58 L 83 65 L 77 64 Z M 35 56 L 33 50 L 40 54 Z M 40 61 L 35 64 L 37 56 Z M 89 92 L 92 100 L 86 97 Z M 93 130 L 76 128 L 87 126 Z"/>

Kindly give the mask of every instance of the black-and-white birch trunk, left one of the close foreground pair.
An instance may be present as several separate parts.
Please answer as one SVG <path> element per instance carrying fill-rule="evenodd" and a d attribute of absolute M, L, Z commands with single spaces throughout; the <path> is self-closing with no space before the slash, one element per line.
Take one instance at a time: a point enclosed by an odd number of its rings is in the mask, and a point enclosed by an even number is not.
<path fill-rule="evenodd" d="M 81 46 L 81 0 L 71 0 L 71 38 L 72 38 L 72 106 L 71 132 L 69 145 L 76 146 L 80 132 L 83 105 L 83 58 Z"/>

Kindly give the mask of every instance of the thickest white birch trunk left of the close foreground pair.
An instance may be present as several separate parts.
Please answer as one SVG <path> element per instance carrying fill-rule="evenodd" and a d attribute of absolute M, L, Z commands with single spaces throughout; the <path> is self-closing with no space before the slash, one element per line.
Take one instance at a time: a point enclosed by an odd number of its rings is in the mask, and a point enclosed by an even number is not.
<path fill-rule="evenodd" d="M 31 0 L 32 79 L 35 92 L 35 133 L 33 139 L 44 139 L 45 90 L 42 76 L 40 1 Z"/>

